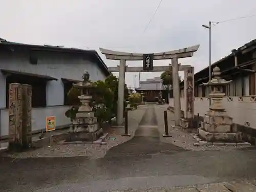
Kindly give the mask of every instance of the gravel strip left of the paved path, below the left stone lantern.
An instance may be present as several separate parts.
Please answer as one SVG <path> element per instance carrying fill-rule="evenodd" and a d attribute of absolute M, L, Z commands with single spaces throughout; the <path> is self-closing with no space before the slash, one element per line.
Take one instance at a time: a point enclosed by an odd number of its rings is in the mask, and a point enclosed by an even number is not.
<path fill-rule="evenodd" d="M 76 156 L 86 156 L 90 159 L 102 158 L 113 146 L 119 145 L 133 138 L 145 111 L 146 106 L 141 105 L 137 110 L 129 112 L 129 133 L 131 134 L 131 137 L 121 136 L 121 134 L 124 133 L 124 127 L 111 127 L 105 130 L 105 132 L 108 133 L 108 136 L 106 137 L 106 144 L 103 145 L 92 143 L 63 144 L 63 142 L 59 142 L 53 146 L 37 148 L 36 150 L 29 150 L 23 153 L 6 153 L 4 156 L 12 158 Z M 114 138 L 114 140 L 112 140 L 112 138 Z"/>

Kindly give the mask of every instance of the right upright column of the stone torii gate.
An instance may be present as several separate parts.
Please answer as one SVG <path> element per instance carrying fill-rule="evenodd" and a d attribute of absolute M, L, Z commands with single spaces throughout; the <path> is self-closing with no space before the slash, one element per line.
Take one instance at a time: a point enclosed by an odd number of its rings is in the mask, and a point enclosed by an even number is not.
<path fill-rule="evenodd" d="M 179 80 L 179 65 L 178 59 L 172 59 L 173 67 L 173 92 L 174 92 L 174 117 L 175 126 L 180 126 L 181 104 L 180 104 L 180 80 Z"/>

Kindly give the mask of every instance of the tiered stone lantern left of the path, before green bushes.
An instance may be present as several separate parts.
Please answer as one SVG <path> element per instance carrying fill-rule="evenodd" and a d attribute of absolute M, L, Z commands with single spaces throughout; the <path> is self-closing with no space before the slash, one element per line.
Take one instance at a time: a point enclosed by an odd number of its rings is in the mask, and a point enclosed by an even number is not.
<path fill-rule="evenodd" d="M 66 141 L 95 141 L 102 134 L 103 130 L 99 129 L 97 117 L 94 116 L 90 103 L 92 100 L 93 84 L 89 81 L 90 74 L 88 71 L 83 72 L 83 81 L 73 84 L 80 90 L 78 98 L 81 101 L 76 118 L 73 120 L 74 130 L 70 132 Z"/>

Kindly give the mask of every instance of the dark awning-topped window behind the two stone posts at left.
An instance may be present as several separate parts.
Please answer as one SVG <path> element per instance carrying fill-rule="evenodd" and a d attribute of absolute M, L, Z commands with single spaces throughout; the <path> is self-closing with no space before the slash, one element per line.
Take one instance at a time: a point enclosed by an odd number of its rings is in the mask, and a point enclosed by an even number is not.
<path fill-rule="evenodd" d="M 25 75 L 11 75 L 6 77 L 6 108 L 9 107 L 9 84 L 14 82 L 32 86 L 32 108 L 46 106 L 46 80 Z"/>

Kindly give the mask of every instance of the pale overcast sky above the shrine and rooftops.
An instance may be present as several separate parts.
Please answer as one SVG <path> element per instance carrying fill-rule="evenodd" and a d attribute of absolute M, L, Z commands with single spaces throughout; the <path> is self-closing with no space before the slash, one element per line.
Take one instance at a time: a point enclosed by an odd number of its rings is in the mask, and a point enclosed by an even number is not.
<path fill-rule="evenodd" d="M 0 0 L 0 37 L 26 44 L 48 44 L 81 49 L 99 47 L 126 52 L 153 53 L 200 44 L 191 58 L 180 59 L 198 72 L 208 65 L 209 20 L 256 13 L 255 0 L 163 0 L 145 32 L 160 0 Z M 256 38 L 256 16 L 218 24 L 212 28 L 212 62 L 231 49 Z M 100 52 L 99 52 L 100 53 Z M 107 66 L 117 61 L 106 60 Z M 157 60 L 154 65 L 168 65 Z M 142 61 L 127 61 L 142 66 Z M 142 73 L 141 80 L 161 73 Z M 118 75 L 118 74 L 115 74 Z M 181 73 L 182 75 L 182 73 Z M 183 75 L 182 75 L 183 76 Z M 134 87 L 134 74 L 126 74 Z M 138 77 L 136 77 L 138 87 Z"/>

